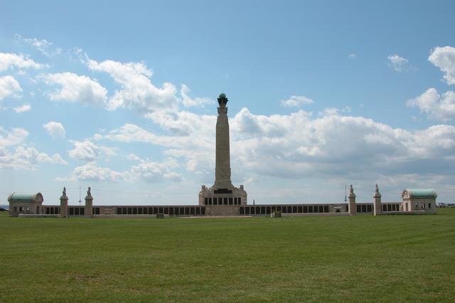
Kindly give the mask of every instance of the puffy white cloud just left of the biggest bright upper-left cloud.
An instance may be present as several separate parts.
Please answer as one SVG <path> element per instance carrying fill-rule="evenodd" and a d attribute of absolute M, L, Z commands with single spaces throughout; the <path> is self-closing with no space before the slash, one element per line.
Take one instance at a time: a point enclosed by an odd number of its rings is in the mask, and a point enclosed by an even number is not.
<path fill-rule="evenodd" d="M 74 73 L 55 73 L 41 75 L 48 85 L 61 85 L 59 90 L 50 92 L 50 100 L 82 102 L 88 105 L 105 105 L 107 90 L 96 80 Z"/>

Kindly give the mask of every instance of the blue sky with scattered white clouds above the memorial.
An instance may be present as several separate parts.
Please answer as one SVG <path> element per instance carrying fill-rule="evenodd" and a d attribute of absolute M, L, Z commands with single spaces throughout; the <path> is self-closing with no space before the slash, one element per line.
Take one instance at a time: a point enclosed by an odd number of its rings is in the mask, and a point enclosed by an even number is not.
<path fill-rule="evenodd" d="M 197 203 L 225 92 L 250 202 L 453 202 L 454 2 L 269 2 L 0 1 L 1 194 Z"/>

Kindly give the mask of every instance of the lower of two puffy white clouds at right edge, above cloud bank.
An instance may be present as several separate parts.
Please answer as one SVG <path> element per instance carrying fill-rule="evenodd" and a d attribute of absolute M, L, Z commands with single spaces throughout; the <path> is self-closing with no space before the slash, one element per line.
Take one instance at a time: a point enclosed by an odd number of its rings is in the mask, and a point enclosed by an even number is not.
<path fill-rule="evenodd" d="M 447 122 L 455 118 L 455 92 L 447 91 L 439 95 L 433 87 L 419 97 L 407 101 L 407 106 L 419 107 L 429 117 L 439 121 Z"/>

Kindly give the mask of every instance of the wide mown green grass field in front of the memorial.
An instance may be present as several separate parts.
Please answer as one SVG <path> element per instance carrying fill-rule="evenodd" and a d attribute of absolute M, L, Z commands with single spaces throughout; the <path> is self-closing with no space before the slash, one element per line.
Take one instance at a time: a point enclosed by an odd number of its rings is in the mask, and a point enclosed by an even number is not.
<path fill-rule="evenodd" d="M 0 215 L 1 302 L 454 302 L 455 208 L 428 216 Z"/>

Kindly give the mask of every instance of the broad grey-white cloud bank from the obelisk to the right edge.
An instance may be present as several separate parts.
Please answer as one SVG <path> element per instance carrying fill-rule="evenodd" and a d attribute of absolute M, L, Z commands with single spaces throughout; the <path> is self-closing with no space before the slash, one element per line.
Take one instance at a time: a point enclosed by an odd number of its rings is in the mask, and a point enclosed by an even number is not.
<path fill-rule="evenodd" d="M 232 155 L 239 167 L 256 174 L 360 174 L 358 167 L 363 169 L 361 174 L 365 170 L 373 174 L 398 167 L 414 169 L 412 164 L 422 159 L 444 162 L 455 156 L 455 127 L 449 125 L 408 132 L 363 117 L 326 115 L 311 119 L 305 112 L 264 117 L 246 109 L 233 120 Z M 282 124 L 280 131 L 271 132 L 270 124 L 277 121 Z M 250 129 L 250 137 L 240 137 L 245 134 L 237 134 L 237 129 Z"/>

